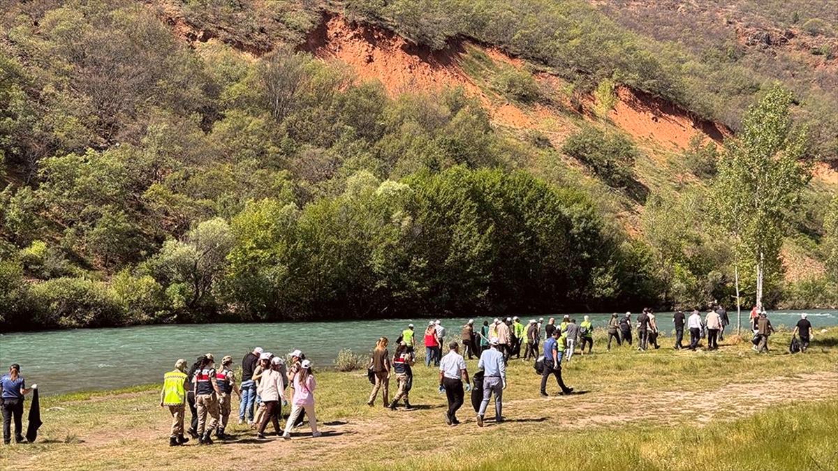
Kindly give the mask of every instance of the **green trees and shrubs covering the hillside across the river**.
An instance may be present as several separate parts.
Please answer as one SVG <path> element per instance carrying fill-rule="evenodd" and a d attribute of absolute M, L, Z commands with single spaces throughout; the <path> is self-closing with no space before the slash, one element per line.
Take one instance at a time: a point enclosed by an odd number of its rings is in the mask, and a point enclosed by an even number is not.
<path fill-rule="evenodd" d="M 164 13 L 221 41 L 186 44 Z M 520 54 L 510 70 L 469 53 L 473 80 L 575 131 L 499 127 L 462 88 L 389 96 L 295 49 L 323 14 Z M 734 141 L 660 153 L 556 96 L 608 108 L 630 85 L 737 130 L 760 103 L 797 121 L 757 151 L 835 155 L 835 115 L 812 105 L 834 96 L 711 73 L 581 2 L 39 0 L 0 22 L 3 329 L 730 306 L 736 274 L 753 303 L 753 251 L 714 196 Z M 767 306 L 838 303 L 836 185 L 803 170 L 760 242 Z M 784 277 L 781 249 L 812 270 Z"/>

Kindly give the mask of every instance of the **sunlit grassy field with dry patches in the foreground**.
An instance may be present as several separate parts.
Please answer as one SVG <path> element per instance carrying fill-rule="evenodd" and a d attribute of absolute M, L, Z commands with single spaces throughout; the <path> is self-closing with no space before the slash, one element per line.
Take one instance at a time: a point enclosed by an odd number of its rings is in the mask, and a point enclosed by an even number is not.
<path fill-rule="evenodd" d="M 805 355 L 785 353 L 788 340 L 777 334 L 757 355 L 735 336 L 713 352 L 675 351 L 671 338 L 606 352 L 599 337 L 594 355 L 564 368 L 576 393 L 549 398 L 530 362 L 512 360 L 507 420 L 484 428 L 468 403 L 461 425 L 444 424 L 437 372 L 424 365 L 412 411 L 366 406 L 360 372 L 318 372 L 323 437 L 303 427 L 291 442 L 235 425 L 228 443 L 170 448 L 156 385 L 46 397 L 39 442 L 2 448 L 0 468 L 838 469 L 838 328 Z"/>

